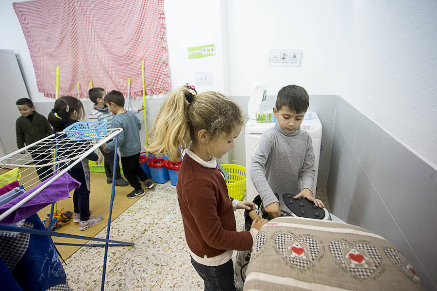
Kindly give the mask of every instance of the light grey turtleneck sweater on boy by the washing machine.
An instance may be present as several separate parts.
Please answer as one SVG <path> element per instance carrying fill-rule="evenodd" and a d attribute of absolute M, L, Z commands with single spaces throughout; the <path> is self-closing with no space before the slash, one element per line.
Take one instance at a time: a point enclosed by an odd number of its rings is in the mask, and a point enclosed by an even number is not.
<path fill-rule="evenodd" d="M 316 170 L 308 132 L 299 128 L 288 133 L 276 123 L 261 136 L 250 173 L 264 206 L 279 202 L 274 193 L 296 195 L 308 188 L 314 194 Z"/>

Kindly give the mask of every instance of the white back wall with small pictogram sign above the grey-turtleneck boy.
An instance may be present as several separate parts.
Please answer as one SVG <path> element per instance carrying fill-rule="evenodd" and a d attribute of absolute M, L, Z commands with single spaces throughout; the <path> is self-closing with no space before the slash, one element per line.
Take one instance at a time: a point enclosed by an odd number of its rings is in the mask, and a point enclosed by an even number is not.
<path fill-rule="evenodd" d="M 336 94 L 344 0 L 226 1 L 230 95 L 250 95 L 261 76 L 269 95 L 285 85 Z M 302 49 L 300 67 L 269 66 L 271 49 Z"/>

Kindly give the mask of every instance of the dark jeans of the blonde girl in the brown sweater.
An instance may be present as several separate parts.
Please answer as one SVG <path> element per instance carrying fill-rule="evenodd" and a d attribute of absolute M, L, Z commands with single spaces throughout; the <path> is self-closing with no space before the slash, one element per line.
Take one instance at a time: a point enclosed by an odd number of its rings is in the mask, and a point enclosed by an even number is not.
<path fill-rule="evenodd" d="M 197 274 L 202 277 L 205 291 L 235 291 L 232 259 L 222 265 L 210 267 L 199 264 L 191 258 L 191 264 L 196 269 Z"/>

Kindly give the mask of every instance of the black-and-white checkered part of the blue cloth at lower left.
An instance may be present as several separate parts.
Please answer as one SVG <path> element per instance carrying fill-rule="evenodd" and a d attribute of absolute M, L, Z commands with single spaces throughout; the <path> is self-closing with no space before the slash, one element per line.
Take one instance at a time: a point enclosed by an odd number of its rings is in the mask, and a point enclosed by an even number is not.
<path fill-rule="evenodd" d="M 24 222 L 22 227 L 33 228 L 31 223 Z M 16 232 L 15 232 L 16 233 Z M 14 270 L 29 246 L 29 233 L 18 232 L 15 237 L 0 237 L 0 258 L 9 270 Z"/>

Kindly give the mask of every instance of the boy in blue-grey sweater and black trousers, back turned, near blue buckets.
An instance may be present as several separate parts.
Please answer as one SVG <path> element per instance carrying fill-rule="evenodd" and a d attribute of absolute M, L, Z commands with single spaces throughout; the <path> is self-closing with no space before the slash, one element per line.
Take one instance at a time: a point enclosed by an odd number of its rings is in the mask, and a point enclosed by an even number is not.
<path fill-rule="evenodd" d="M 139 155 L 141 152 L 141 142 L 138 130 L 141 129 L 141 123 L 138 117 L 130 111 L 124 109 L 124 97 L 121 92 L 112 90 L 105 96 L 105 104 L 109 111 L 115 117 L 112 120 L 112 128 L 122 128 L 118 134 L 118 146 L 120 149 L 121 166 L 123 167 L 124 177 L 129 184 L 134 187 L 134 191 L 127 194 L 128 198 L 135 198 L 145 194 L 141 187 L 138 178 L 144 182 L 147 188 L 152 188 L 153 183 L 147 179 L 146 173 L 139 165 Z M 116 140 L 113 139 L 110 143 L 103 145 L 103 151 L 109 153 L 115 149 Z"/>

